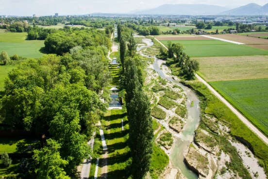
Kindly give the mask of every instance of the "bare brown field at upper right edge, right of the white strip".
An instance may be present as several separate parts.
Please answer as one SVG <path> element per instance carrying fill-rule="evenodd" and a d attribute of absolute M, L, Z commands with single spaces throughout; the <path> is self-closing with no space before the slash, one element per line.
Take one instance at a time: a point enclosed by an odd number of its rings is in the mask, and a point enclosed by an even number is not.
<path fill-rule="evenodd" d="M 226 40 L 232 40 L 244 44 L 268 44 L 268 39 L 256 38 L 251 36 L 239 36 L 235 34 L 224 34 L 224 35 L 208 35 L 217 38 L 223 38 Z"/>

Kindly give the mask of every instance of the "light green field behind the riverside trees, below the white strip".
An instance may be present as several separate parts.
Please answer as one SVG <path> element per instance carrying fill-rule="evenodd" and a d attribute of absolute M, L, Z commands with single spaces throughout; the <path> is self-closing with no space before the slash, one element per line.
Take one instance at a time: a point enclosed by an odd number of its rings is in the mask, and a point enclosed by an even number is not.
<path fill-rule="evenodd" d="M 165 45 L 168 40 L 161 40 Z M 172 40 L 184 45 L 185 53 L 191 57 L 268 55 L 268 51 L 219 40 Z"/>

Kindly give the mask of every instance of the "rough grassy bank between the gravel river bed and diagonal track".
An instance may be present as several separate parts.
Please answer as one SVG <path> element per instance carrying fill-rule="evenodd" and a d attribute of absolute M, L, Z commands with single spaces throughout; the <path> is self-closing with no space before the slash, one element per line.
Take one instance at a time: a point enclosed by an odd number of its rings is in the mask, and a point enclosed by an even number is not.
<path fill-rule="evenodd" d="M 207 87 L 201 82 L 197 80 L 185 81 L 184 84 L 191 87 L 199 95 L 201 100 L 201 110 L 204 113 L 211 114 L 218 120 L 223 121 L 230 128 L 230 134 L 232 136 L 240 137 L 249 143 L 248 147 L 259 159 L 259 163 L 264 167 L 266 174 L 268 174 L 268 145 L 264 143 L 258 136 L 256 136 L 256 134 L 253 133 L 242 121 L 240 121 L 238 117 L 215 95 L 213 95 L 211 91 L 208 90 Z M 230 149 L 230 151 L 235 153 L 235 150 L 232 149 L 231 144 L 227 144 L 228 142 L 226 139 L 222 139 L 222 141 L 225 141 L 222 143 L 222 145 L 224 145 L 224 150 Z M 236 167 L 234 164 L 231 164 L 231 166 Z M 236 167 L 236 169 L 237 168 L 238 167 Z"/>

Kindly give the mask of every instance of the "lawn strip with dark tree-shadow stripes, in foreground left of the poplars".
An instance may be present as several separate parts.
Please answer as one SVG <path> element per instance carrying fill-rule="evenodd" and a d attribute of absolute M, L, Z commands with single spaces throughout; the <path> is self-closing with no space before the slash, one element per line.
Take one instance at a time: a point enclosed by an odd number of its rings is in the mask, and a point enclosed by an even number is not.
<path fill-rule="evenodd" d="M 124 131 L 121 120 L 124 121 Z M 131 172 L 131 156 L 128 147 L 128 119 L 125 109 L 109 110 L 103 120 L 108 148 L 108 179 L 127 179 Z"/>

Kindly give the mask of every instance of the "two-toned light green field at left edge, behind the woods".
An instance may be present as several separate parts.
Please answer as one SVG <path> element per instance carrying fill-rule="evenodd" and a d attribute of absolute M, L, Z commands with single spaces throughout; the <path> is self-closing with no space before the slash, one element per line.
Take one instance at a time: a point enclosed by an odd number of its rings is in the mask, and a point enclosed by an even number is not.
<path fill-rule="evenodd" d="M 27 33 L 0 33 L 0 52 L 6 51 L 9 56 L 18 54 L 27 58 L 38 58 L 43 54 L 44 40 L 26 40 Z"/>

